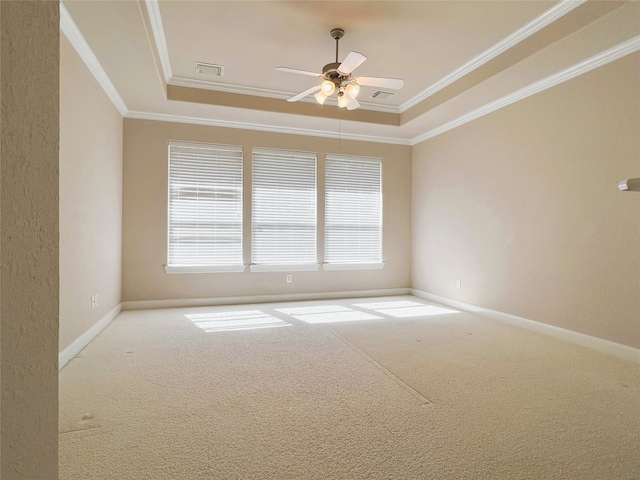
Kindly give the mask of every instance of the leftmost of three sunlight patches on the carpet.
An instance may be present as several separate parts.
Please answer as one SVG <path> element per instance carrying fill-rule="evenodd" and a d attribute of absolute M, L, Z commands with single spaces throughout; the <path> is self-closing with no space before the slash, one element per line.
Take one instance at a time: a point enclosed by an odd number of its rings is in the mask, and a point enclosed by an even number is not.
<path fill-rule="evenodd" d="M 239 312 L 222 313 L 192 313 L 186 314 L 185 317 L 207 333 L 291 326 L 290 323 L 280 320 L 279 318 L 272 317 L 260 310 L 244 310 Z"/>

